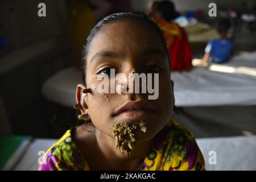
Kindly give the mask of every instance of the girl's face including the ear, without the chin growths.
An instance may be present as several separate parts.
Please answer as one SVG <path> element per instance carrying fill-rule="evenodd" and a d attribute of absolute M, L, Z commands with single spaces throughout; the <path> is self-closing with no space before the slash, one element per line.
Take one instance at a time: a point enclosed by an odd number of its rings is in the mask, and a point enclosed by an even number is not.
<path fill-rule="evenodd" d="M 148 94 L 143 93 L 99 93 L 101 80 L 97 77 L 110 73 L 110 69 L 115 69 L 115 75 L 125 73 L 127 77 L 131 71 L 159 73 L 158 98 L 148 100 Z M 86 84 L 92 93 L 82 93 L 83 86 L 78 85 L 77 101 L 94 126 L 113 138 L 114 124 L 144 121 L 147 133 L 136 133 L 137 142 L 143 142 L 154 137 L 171 119 L 174 95 L 170 76 L 167 52 L 150 24 L 139 20 L 109 23 L 97 32 L 88 48 Z M 114 77 L 109 75 L 108 79 L 110 82 Z M 119 112 L 125 104 L 131 110 Z"/>

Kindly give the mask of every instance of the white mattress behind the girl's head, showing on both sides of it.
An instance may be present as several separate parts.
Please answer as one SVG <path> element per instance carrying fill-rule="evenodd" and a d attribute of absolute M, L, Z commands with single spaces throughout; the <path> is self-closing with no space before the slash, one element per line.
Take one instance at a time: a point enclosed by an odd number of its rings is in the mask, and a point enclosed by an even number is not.
<path fill-rule="evenodd" d="M 210 71 L 208 67 L 172 72 L 176 106 L 256 105 L 256 52 L 236 56 L 226 66 L 229 67 L 224 67 L 224 71 L 239 68 L 239 73 Z M 246 72 L 241 67 L 250 70 Z M 81 82 L 81 73 L 67 68 L 44 83 L 42 94 L 49 101 L 72 107 L 76 85 Z"/>

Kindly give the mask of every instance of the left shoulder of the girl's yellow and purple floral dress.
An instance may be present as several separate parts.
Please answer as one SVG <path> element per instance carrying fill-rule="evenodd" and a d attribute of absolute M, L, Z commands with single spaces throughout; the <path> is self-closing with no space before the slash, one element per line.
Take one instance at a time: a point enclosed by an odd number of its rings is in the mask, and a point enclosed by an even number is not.
<path fill-rule="evenodd" d="M 89 169 L 73 140 L 73 131 L 74 129 L 67 130 L 63 137 L 48 149 L 39 164 L 40 171 Z"/>

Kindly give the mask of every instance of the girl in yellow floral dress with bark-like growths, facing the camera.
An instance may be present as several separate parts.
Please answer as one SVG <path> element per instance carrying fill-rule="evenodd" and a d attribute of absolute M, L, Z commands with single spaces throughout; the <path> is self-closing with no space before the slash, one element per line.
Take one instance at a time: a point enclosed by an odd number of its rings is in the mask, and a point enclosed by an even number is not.
<path fill-rule="evenodd" d="M 86 123 L 53 144 L 39 169 L 203 170 L 193 135 L 172 120 L 170 61 L 159 27 L 143 13 L 113 14 L 98 22 L 84 48 L 84 83 L 77 85 L 75 109 Z M 158 98 L 99 92 L 98 76 L 111 82 L 111 69 L 126 75 L 157 73 Z"/>

